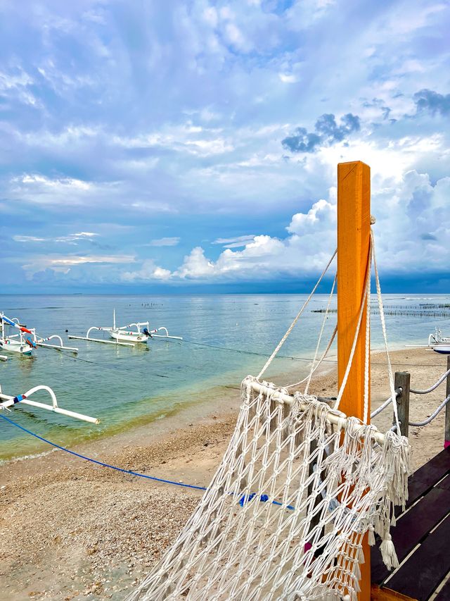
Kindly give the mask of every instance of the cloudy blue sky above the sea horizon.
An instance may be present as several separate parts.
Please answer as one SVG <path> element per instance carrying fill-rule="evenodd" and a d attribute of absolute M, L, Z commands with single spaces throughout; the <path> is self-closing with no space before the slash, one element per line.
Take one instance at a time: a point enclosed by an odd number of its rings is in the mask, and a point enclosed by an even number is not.
<path fill-rule="evenodd" d="M 385 292 L 450 292 L 449 31 L 449 1 L 0 0 L 1 292 L 307 292 L 355 160 Z"/>

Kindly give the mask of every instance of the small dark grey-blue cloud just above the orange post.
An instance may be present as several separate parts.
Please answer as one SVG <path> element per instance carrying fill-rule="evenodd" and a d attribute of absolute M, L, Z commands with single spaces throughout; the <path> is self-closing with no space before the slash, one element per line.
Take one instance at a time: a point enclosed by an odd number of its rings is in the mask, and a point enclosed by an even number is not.
<path fill-rule="evenodd" d="M 285 137 L 281 144 L 290 152 L 314 152 L 321 146 L 330 146 L 346 140 L 353 132 L 359 131 L 360 127 L 359 117 L 352 113 L 342 116 L 340 125 L 336 123 L 333 114 L 324 113 L 316 120 L 315 132 L 296 128 L 293 135 Z"/>

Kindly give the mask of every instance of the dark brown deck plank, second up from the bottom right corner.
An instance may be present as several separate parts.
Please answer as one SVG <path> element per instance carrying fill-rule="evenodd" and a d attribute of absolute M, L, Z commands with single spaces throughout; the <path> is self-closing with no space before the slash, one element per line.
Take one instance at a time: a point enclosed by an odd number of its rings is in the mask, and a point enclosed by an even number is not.
<path fill-rule="evenodd" d="M 390 578 L 389 588 L 418 601 L 427 601 L 450 571 L 449 540 L 450 515 Z"/>

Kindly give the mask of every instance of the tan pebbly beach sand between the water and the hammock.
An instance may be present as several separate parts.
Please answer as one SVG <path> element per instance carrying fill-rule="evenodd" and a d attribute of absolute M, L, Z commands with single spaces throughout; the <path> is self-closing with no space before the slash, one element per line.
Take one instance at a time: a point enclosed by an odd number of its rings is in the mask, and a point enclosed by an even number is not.
<path fill-rule="evenodd" d="M 428 388 L 446 371 L 446 357 L 425 349 L 392 353 L 394 371 Z M 294 376 L 295 378 L 295 376 Z M 236 383 L 236 385 L 238 385 Z M 371 409 L 389 396 L 383 354 L 372 356 Z M 311 392 L 336 393 L 335 365 Z M 411 421 L 429 416 L 445 383 L 411 396 Z M 176 416 L 108 439 L 79 445 L 89 457 L 177 482 L 205 486 L 233 432 L 238 390 L 224 388 Z M 375 418 L 392 424 L 392 409 Z M 411 428 L 416 469 L 442 450 L 444 411 L 425 428 Z M 56 451 L 0 467 L 0 599 L 122 600 L 171 545 L 202 491 L 125 475 Z"/>

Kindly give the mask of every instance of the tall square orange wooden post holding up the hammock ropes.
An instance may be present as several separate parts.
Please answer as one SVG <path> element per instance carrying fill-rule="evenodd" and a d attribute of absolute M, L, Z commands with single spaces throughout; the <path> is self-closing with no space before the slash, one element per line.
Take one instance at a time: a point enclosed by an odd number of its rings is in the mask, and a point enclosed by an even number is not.
<path fill-rule="evenodd" d="M 338 164 L 338 385 L 342 383 L 352 349 L 361 299 L 364 295 L 371 233 L 371 170 L 361 161 Z M 360 419 L 364 414 L 364 353 L 366 311 L 359 342 L 339 409 Z M 370 408 L 369 408 L 370 415 Z M 371 598 L 371 555 L 363 543 L 359 600 Z"/>

